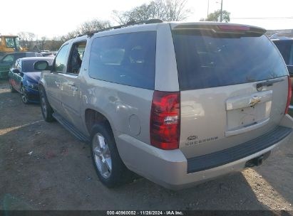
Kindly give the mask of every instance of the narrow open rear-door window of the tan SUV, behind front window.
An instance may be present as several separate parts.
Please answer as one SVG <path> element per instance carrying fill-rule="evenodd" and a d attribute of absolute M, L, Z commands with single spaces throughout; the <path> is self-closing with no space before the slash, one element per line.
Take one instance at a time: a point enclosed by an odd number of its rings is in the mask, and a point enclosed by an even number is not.
<path fill-rule="evenodd" d="M 68 60 L 68 73 L 78 75 L 83 61 L 83 53 L 86 50 L 86 41 L 74 43 L 71 48 L 71 55 Z"/>

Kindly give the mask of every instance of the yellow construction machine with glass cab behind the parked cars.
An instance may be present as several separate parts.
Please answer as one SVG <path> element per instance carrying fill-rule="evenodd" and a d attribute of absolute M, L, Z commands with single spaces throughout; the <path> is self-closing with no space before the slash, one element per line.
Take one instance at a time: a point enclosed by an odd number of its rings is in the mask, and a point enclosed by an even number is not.
<path fill-rule="evenodd" d="M 0 35 L 0 58 L 6 53 L 26 52 L 28 48 L 22 48 L 18 36 Z"/>

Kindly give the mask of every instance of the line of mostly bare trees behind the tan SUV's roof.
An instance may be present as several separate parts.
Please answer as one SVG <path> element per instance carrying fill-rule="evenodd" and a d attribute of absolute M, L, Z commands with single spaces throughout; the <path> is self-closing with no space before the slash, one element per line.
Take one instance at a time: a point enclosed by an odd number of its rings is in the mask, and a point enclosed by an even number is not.
<path fill-rule="evenodd" d="M 148 4 L 136 6 L 129 11 L 112 11 L 113 20 L 120 25 L 125 25 L 131 21 L 146 21 L 149 19 L 160 19 L 162 21 L 184 21 L 192 11 L 187 9 L 188 0 L 153 0 Z M 200 21 L 220 21 L 220 10 L 210 13 L 207 18 L 202 18 Z M 230 13 L 222 11 L 223 21 L 230 21 Z M 21 45 L 29 49 L 38 48 L 39 50 L 58 50 L 60 46 L 71 38 L 81 36 L 86 33 L 99 31 L 103 28 L 111 27 L 111 22 L 106 20 L 93 19 L 82 23 L 76 30 L 68 32 L 66 35 L 59 38 L 54 37 L 48 40 L 46 37 L 41 37 L 41 40 L 36 40 L 36 35 L 29 32 L 19 33 Z M 36 43 L 37 42 L 37 43 Z"/>

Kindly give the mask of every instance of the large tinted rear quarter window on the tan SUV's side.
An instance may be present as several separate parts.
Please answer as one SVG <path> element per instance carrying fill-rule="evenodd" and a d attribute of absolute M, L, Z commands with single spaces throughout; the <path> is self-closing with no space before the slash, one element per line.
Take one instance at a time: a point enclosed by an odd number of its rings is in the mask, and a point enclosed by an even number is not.
<path fill-rule="evenodd" d="M 156 32 L 96 38 L 89 75 L 95 79 L 154 89 Z"/>

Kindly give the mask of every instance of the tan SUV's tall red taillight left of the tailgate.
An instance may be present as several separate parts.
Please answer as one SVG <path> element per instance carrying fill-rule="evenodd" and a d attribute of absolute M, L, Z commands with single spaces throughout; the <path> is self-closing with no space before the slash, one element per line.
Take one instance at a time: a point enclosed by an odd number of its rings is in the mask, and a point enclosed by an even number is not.
<path fill-rule="evenodd" d="M 150 113 L 150 143 L 171 150 L 179 147 L 180 92 L 153 93 Z"/>

